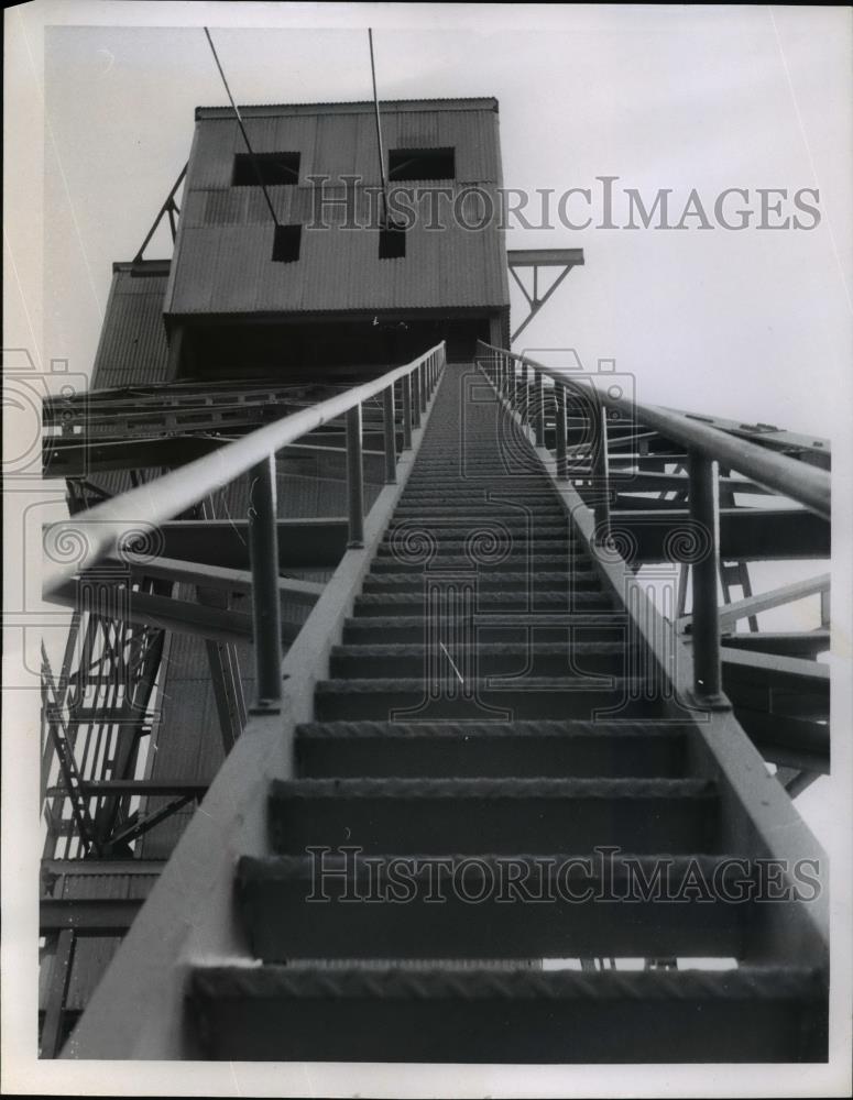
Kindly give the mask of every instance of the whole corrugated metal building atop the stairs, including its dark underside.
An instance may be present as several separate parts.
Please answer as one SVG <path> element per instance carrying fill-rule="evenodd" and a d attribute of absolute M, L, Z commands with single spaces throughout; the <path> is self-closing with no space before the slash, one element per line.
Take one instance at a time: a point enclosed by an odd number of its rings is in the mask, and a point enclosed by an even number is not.
<path fill-rule="evenodd" d="M 390 238 L 372 103 L 241 114 L 254 161 L 230 108 L 196 111 L 164 305 L 174 376 L 383 364 L 441 339 L 464 356 L 506 336 L 496 100 L 382 105 L 389 211 L 407 227 Z M 277 255 L 259 172 L 288 228 Z"/>

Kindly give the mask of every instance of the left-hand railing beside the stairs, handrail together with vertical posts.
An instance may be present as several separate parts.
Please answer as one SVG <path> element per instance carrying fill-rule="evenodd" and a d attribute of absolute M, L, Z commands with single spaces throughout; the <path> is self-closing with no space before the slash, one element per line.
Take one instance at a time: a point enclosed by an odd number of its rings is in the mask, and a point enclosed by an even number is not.
<path fill-rule="evenodd" d="M 278 548 L 275 499 L 275 455 L 308 432 L 346 417 L 349 546 L 364 537 L 364 471 L 362 406 L 380 398 L 383 409 L 385 483 L 396 480 L 397 433 L 395 387 L 402 404 L 403 449 L 420 425 L 445 363 L 444 343 L 381 377 L 337 394 L 310 408 L 285 416 L 219 448 L 211 454 L 140 485 L 103 504 L 51 525 L 47 537 L 56 546 L 85 540 L 81 557 L 72 564 L 46 569 L 45 598 L 74 585 L 103 558 L 132 556 L 144 532 L 174 519 L 211 493 L 250 474 L 249 550 L 252 573 L 252 622 L 258 706 L 276 708 L 281 698 L 282 626 L 278 598 Z"/>

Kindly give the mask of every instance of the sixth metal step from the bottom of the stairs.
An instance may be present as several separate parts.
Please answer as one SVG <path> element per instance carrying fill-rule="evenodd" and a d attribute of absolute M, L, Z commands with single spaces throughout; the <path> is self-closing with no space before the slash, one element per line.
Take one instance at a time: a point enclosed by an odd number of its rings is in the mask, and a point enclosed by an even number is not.
<path fill-rule="evenodd" d="M 625 673 L 631 661 L 624 641 L 484 642 L 445 646 L 434 639 L 424 645 L 336 646 L 331 651 L 329 672 L 335 679 L 368 679 L 376 676 L 425 678 L 439 670 L 457 669 L 460 675 L 583 675 Z M 634 647 L 636 649 L 636 646 Z"/>

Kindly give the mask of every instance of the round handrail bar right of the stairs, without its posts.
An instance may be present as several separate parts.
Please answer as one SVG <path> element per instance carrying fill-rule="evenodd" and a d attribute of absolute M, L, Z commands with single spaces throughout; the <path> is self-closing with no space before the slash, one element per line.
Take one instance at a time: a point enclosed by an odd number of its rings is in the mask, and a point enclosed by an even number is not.
<path fill-rule="evenodd" d="M 566 388 L 589 395 L 589 387 L 580 385 L 575 378 L 526 355 L 518 355 L 504 348 L 495 348 L 485 341 L 479 341 L 483 348 L 499 355 L 508 355 L 525 367 L 540 371 L 555 383 Z M 829 519 L 830 507 L 830 474 L 817 466 L 798 462 L 784 454 L 766 451 L 756 443 L 726 435 L 719 428 L 690 420 L 680 413 L 671 413 L 656 405 L 643 405 L 625 397 L 611 397 L 595 388 L 597 400 L 606 408 L 636 416 L 649 428 L 659 431 L 661 436 L 677 443 L 682 443 L 689 450 L 703 454 L 706 458 L 720 462 L 737 473 L 744 474 L 765 488 L 775 490 L 803 505 L 810 512 L 823 519 Z"/>

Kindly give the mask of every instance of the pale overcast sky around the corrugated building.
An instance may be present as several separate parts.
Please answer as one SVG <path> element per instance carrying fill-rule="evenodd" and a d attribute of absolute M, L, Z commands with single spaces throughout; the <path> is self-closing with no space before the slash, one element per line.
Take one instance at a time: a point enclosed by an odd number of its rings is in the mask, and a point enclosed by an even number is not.
<path fill-rule="evenodd" d="M 187 15 L 204 20 L 204 7 Z M 212 25 L 223 7 L 208 13 Z M 270 21 L 284 22 L 286 6 L 272 7 Z M 384 22 L 404 24 L 406 7 L 385 6 Z M 453 7 L 438 8 L 452 23 Z M 239 20 L 240 6 L 228 14 Z M 850 13 L 550 9 L 539 29 L 535 16 L 502 26 L 501 6 L 474 14 L 463 28 L 378 25 L 379 87 L 390 99 L 496 96 L 505 186 L 534 199 L 539 188 L 592 191 L 591 211 L 577 195 L 568 207 L 578 224 L 592 213 L 588 229 L 508 234 L 511 248 L 586 254 L 516 346 L 575 348 L 591 369 L 615 359 L 641 399 L 829 433 L 828 393 L 850 393 Z M 239 102 L 370 97 L 363 26 L 214 35 Z M 54 28 L 45 91 L 45 346 L 87 371 L 110 264 L 132 257 L 184 164 L 194 108 L 227 100 L 200 26 Z M 676 231 L 598 228 L 605 175 L 619 177 L 616 222 L 625 188 L 646 206 L 670 188 L 672 221 L 696 188 L 714 228 L 699 218 Z M 748 197 L 729 200 L 729 220 L 754 211 L 744 231 L 713 217 L 717 196 L 735 187 Z M 787 191 L 781 217 L 798 212 L 796 191 L 819 188 L 819 202 L 808 199 L 819 224 L 756 228 L 758 188 Z M 513 307 L 515 327 L 515 287 Z"/>

